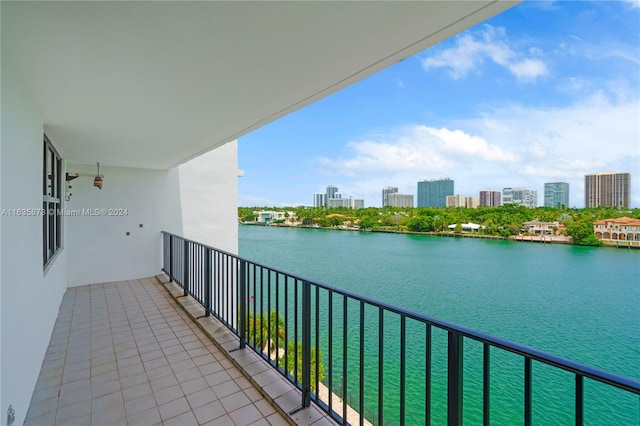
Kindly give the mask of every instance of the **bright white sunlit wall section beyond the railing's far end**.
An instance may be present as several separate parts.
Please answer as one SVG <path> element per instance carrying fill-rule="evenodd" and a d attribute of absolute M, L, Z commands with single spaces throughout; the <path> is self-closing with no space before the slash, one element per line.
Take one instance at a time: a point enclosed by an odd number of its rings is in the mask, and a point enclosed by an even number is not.
<path fill-rule="evenodd" d="M 184 236 L 237 254 L 238 142 L 229 142 L 178 169 Z"/>

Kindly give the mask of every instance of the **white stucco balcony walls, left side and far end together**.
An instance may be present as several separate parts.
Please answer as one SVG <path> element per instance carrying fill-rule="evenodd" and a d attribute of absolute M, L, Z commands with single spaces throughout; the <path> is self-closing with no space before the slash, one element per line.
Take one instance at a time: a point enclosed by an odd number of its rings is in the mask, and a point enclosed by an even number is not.
<path fill-rule="evenodd" d="M 0 206 L 40 209 L 46 126 L 6 62 L 1 74 Z M 96 172 L 95 164 L 64 164 L 70 173 Z M 101 165 L 102 190 L 91 177 L 73 180 L 63 208 L 80 213 L 64 218 L 63 249 L 46 272 L 42 218 L 0 218 L 0 423 L 9 405 L 15 425 L 26 417 L 67 287 L 159 273 L 162 230 L 237 253 L 237 164 L 234 141 L 169 171 Z M 118 209 L 126 214 L 109 215 Z"/>

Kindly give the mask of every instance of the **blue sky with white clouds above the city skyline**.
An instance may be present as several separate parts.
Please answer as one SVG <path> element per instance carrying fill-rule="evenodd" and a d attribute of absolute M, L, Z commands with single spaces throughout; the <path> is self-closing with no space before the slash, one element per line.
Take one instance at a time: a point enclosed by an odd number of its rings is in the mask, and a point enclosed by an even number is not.
<path fill-rule="evenodd" d="M 312 205 L 329 184 L 379 207 L 449 177 L 455 193 L 631 173 L 640 207 L 640 0 L 529 1 L 242 137 L 241 206 Z"/>

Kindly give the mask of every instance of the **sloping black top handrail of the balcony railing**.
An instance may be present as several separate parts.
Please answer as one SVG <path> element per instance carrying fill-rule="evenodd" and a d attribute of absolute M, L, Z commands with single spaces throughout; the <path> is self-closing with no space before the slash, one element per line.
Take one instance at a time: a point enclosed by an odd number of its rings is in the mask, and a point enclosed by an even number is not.
<path fill-rule="evenodd" d="M 202 244 L 199 243 L 197 241 L 193 241 L 193 240 L 189 240 L 187 238 L 183 238 L 180 237 L 179 235 L 175 235 L 172 234 L 170 232 L 167 231 L 162 231 L 163 234 L 167 234 L 167 235 L 173 235 L 183 241 L 187 241 L 187 242 L 191 242 L 193 244 L 197 244 L 200 246 L 203 246 L 205 248 L 210 248 L 212 250 L 215 250 L 217 252 L 226 254 L 230 257 L 236 258 L 240 261 L 245 261 L 248 262 L 250 264 L 254 264 L 257 265 L 259 267 L 265 268 L 271 272 L 275 272 L 278 274 L 282 274 L 285 275 L 287 277 L 291 277 L 294 280 L 300 280 L 300 281 L 308 281 L 309 283 L 311 283 L 312 285 L 316 285 L 322 289 L 328 290 L 328 291 L 332 291 L 336 294 L 340 294 L 345 298 L 351 298 L 357 301 L 362 301 L 364 303 L 367 303 L 369 305 L 378 307 L 378 308 L 383 308 L 389 312 L 395 313 L 397 315 L 400 316 L 405 316 L 406 318 L 415 320 L 415 321 L 419 321 L 419 322 L 423 322 L 429 325 L 432 325 L 434 327 L 446 330 L 446 331 L 454 331 L 466 338 L 469 339 L 473 339 L 479 342 L 483 342 L 483 343 L 489 343 L 491 346 L 493 347 L 497 347 L 499 349 L 503 349 L 506 350 L 508 352 L 514 353 L 514 354 L 518 354 L 527 358 L 531 358 L 532 360 L 538 361 L 538 362 L 542 362 L 544 364 L 548 364 L 557 368 L 560 368 L 562 370 L 565 371 L 569 371 L 571 373 L 574 374 L 579 374 L 581 376 L 584 376 L 586 378 L 592 379 L 592 380 L 596 380 L 598 382 L 601 383 L 605 383 L 608 384 L 610 386 L 614 386 L 616 388 L 619 389 L 623 389 L 625 391 L 640 395 L 640 380 L 635 380 L 632 379 L 630 377 L 625 377 L 625 376 L 621 376 L 619 374 L 615 374 L 615 373 L 611 373 L 596 367 L 592 367 L 589 365 L 585 365 L 585 364 L 581 364 L 579 362 L 575 362 L 575 361 L 571 361 L 569 359 L 560 357 L 560 356 L 556 356 L 553 354 L 549 354 L 547 352 L 543 352 L 541 350 L 529 347 L 529 346 L 525 346 L 525 345 L 521 345 L 519 343 L 515 343 L 506 339 L 502 339 L 500 337 L 496 337 L 496 336 L 492 336 L 490 334 L 486 334 L 468 327 L 464 327 L 458 324 L 454 324 L 448 321 L 444 321 L 444 320 L 440 320 L 438 318 L 435 317 L 431 317 L 429 315 L 424 315 L 418 312 L 414 312 L 411 311 L 409 309 L 405 309 L 399 306 L 394 306 L 391 305 L 389 303 L 383 302 L 383 301 L 379 301 L 376 299 L 373 299 L 371 297 L 368 296 L 364 296 L 358 293 L 355 293 L 353 291 L 350 290 L 345 290 L 345 289 L 341 289 L 329 284 L 325 284 L 325 283 L 321 283 L 318 282 L 316 280 L 313 279 L 309 279 L 309 278 L 305 278 L 299 275 L 295 275 L 295 274 L 291 274 L 289 272 L 280 270 L 278 268 L 273 268 L 258 262 L 254 262 L 248 259 L 244 259 L 240 256 L 237 256 L 235 254 L 226 252 L 224 250 L 219 250 L 216 249 L 215 247 L 211 247 L 208 246 L 206 244 Z"/>

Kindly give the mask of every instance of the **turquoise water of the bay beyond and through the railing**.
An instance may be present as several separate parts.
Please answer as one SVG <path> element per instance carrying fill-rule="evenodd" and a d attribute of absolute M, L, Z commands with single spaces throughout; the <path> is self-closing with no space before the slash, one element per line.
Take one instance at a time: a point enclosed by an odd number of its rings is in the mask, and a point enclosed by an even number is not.
<path fill-rule="evenodd" d="M 241 226 L 239 236 L 240 255 L 248 259 L 640 379 L 640 251 L 257 226 Z M 349 321 L 349 336 L 359 330 L 358 309 L 348 307 L 349 318 L 356 319 Z M 377 311 L 365 310 L 365 318 L 364 399 L 377 412 Z M 397 340 L 394 321 L 385 319 L 384 411 L 390 424 L 398 420 L 399 401 L 399 348 L 386 344 Z M 326 354 L 328 323 L 319 322 Z M 341 319 L 334 324 L 340 324 L 332 357 L 335 389 L 342 375 L 336 367 L 342 365 Z M 424 423 L 424 334 L 423 325 L 408 322 L 407 384 L 416 389 L 407 394 L 408 424 Z M 446 334 L 434 330 L 432 341 L 432 421 L 444 424 Z M 358 348 L 349 342 L 349 360 Z M 476 424 L 482 347 L 465 341 L 464 350 L 464 419 Z M 499 350 L 491 357 L 492 424 L 522 423 L 522 358 Z M 573 376 L 537 363 L 533 371 L 534 423 L 571 423 Z M 347 394 L 357 401 L 350 390 L 357 389 L 359 374 L 350 366 L 347 372 Z M 588 424 L 640 424 L 638 397 L 590 381 L 585 410 Z"/>

